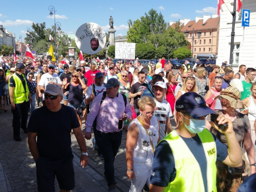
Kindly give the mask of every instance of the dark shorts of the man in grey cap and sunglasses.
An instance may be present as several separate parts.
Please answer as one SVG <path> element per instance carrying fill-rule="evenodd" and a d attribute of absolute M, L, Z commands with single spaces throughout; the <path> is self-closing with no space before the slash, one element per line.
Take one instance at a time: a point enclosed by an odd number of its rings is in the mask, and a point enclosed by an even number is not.
<path fill-rule="evenodd" d="M 65 159 L 51 160 L 45 157 L 38 157 L 36 160 L 36 177 L 38 192 L 55 191 L 55 176 L 62 190 L 75 188 L 75 173 L 73 166 L 73 154 Z"/>

